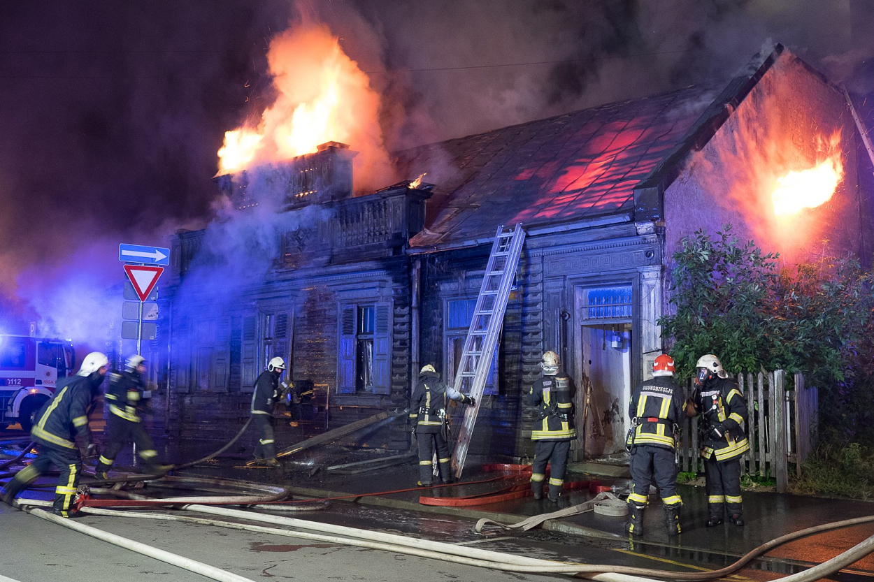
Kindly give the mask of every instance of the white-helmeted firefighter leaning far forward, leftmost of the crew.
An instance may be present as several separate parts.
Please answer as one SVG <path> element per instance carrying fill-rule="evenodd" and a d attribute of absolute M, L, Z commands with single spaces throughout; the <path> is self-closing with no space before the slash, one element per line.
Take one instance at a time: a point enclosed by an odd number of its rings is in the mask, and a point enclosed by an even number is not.
<path fill-rule="evenodd" d="M 104 354 L 93 351 L 82 360 L 75 376 L 59 382 L 54 396 L 37 414 L 31 438 L 37 444 L 37 458 L 12 478 L 3 491 L 3 501 L 12 503 L 51 465 L 60 471 L 52 511 L 62 517 L 76 517 L 79 512 L 70 506 L 79 487 L 82 458 L 92 456 L 94 444 L 88 430 L 88 412 L 107 373 L 109 361 Z"/>

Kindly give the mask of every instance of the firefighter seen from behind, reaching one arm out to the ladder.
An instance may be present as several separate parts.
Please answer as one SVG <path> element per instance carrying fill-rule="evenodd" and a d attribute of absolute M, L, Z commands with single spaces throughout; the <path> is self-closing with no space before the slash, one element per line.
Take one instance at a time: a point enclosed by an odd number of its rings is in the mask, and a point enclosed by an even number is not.
<path fill-rule="evenodd" d="M 449 464 L 447 445 L 447 398 L 465 405 L 475 405 L 474 398 L 465 396 L 454 387 L 440 382 L 440 374 L 434 366 L 427 364 L 419 372 L 419 384 L 410 398 L 410 419 L 413 420 L 413 433 L 419 440 L 419 484 L 431 487 L 434 471 L 434 450 L 440 480 L 452 482 L 452 467 Z"/>

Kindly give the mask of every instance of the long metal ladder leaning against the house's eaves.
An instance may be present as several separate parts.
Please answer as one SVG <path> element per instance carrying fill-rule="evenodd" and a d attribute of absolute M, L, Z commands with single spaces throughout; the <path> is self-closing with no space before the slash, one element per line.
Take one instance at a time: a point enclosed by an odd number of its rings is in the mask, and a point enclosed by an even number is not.
<path fill-rule="evenodd" d="M 501 336 L 503 312 L 510 298 L 510 287 L 516 276 L 524 240 L 525 232 L 521 224 L 507 230 L 504 230 L 503 225 L 498 226 L 486 273 L 482 277 L 482 288 L 476 299 L 474 316 L 461 351 L 458 371 L 455 372 L 455 390 L 476 400 L 475 405 L 466 406 L 464 409 L 464 420 L 461 422 L 458 441 L 452 453 L 452 472 L 456 479 L 461 477 L 464 461 L 468 456 L 476 415 L 480 411 L 482 392 L 485 391 L 486 378 L 489 377 L 492 358 L 497 350 L 497 340 Z"/>

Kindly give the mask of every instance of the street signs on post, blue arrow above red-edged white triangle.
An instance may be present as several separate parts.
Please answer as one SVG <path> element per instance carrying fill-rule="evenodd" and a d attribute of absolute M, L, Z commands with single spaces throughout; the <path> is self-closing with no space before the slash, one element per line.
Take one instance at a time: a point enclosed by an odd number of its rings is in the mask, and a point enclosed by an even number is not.
<path fill-rule="evenodd" d="M 121 262 L 137 262 L 139 264 L 130 265 L 127 264 L 124 266 L 124 272 L 128 274 L 128 280 L 130 281 L 131 286 L 134 288 L 136 293 L 136 297 L 140 300 L 139 305 L 136 306 L 136 331 L 135 334 L 130 333 L 133 331 L 129 329 L 129 327 L 133 327 L 133 322 L 129 322 L 131 325 L 128 326 L 128 322 L 121 322 L 121 337 L 122 339 L 136 339 L 136 353 L 137 355 L 142 355 L 142 335 L 143 331 L 147 333 L 149 339 L 155 339 L 156 337 L 156 324 L 147 322 L 145 326 L 148 329 L 144 329 L 142 322 L 142 311 L 143 304 L 145 301 L 149 300 L 149 295 L 155 290 L 155 286 L 158 282 L 158 279 L 161 277 L 163 273 L 163 267 L 156 267 L 156 265 L 169 265 L 170 264 L 170 249 L 161 248 L 158 246 L 140 246 L 140 245 L 119 245 L 118 249 L 118 259 Z M 133 299 L 133 297 L 131 297 Z M 128 319 L 128 315 L 133 315 L 130 313 L 130 309 L 128 309 L 128 304 L 125 303 L 122 305 L 121 313 L 123 319 Z M 130 307 L 134 307 L 131 305 Z M 156 312 L 157 305 L 156 303 L 149 304 L 149 319 L 155 319 L 157 317 Z M 130 319 L 134 319 L 130 317 Z"/>

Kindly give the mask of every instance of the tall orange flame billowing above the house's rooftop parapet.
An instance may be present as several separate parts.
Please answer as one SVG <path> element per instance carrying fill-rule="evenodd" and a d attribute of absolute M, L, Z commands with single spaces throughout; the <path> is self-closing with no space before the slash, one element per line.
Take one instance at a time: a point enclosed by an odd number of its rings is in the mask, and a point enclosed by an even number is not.
<path fill-rule="evenodd" d="M 276 99 L 252 125 L 225 133 L 218 174 L 315 153 L 325 142 L 356 149 L 356 181 L 393 174 L 380 126 L 381 100 L 370 78 L 323 24 L 300 24 L 270 41 L 267 63 Z M 371 183 L 371 184 L 368 184 Z"/>

